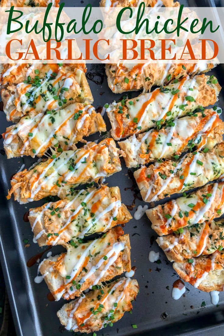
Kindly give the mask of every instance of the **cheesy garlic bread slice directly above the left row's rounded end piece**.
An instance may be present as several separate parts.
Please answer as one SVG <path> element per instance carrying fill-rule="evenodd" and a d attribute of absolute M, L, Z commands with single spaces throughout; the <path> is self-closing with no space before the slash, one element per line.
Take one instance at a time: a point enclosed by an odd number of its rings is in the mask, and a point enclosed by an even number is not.
<path fill-rule="evenodd" d="M 101 282 L 131 270 L 129 235 L 121 227 L 89 242 L 66 244 L 66 253 L 45 259 L 39 265 L 56 301 L 74 299 Z"/>

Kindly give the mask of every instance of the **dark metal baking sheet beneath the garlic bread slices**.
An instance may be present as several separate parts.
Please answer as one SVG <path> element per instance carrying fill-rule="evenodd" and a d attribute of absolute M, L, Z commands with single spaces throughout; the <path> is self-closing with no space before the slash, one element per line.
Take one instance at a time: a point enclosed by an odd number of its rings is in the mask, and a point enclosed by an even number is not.
<path fill-rule="evenodd" d="M 85 6 L 89 2 L 98 6 L 99 0 L 75 0 L 75 6 Z M 186 1 L 185 5 L 213 6 L 213 0 Z M 74 1 L 65 1 L 66 6 L 74 6 Z M 216 5 L 220 5 L 216 1 Z M 220 65 L 211 74 L 218 77 L 220 85 L 224 85 L 223 65 Z M 94 106 L 104 106 L 120 98 L 107 86 L 104 67 L 101 65 L 88 65 L 87 77 L 94 96 Z M 138 93 L 133 93 L 137 95 Z M 223 95 L 220 94 L 219 106 L 224 107 Z M 110 124 L 105 115 L 107 130 Z M 223 116 L 222 116 L 223 118 Z M 5 115 L 1 112 L 0 133 L 5 131 L 9 124 Z M 98 134 L 91 139 L 98 138 Z M 23 336 L 59 336 L 62 329 L 56 316 L 56 311 L 66 302 L 50 302 L 47 299 L 49 292 L 45 282 L 36 284 L 34 278 L 37 275 L 36 263 L 31 268 L 26 266 L 27 260 L 41 252 L 44 248 L 33 243 L 33 234 L 30 224 L 24 222 L 23 215 L 31 207 L 44 204 L 44 200 L 19 205 L 13 199 L 6 201 L 7 189 L 10 187 L 10 176 L 14 174 L 24 163 L 28 168 L 36 160 L 32 158 L 19 158 L 7 160 L 4 156 L 3 142 L 0 140 L 0 249 L 1 263 L 6 280 L 10 304 L 14 316 L 17 335 Z M 127 168 L 122 162 L 122 171 L 106 179 L 110 186 L 119 186 L 122 202 L 131 205 L 134 199 L 133 192 L 125 188 L 132 186 L 132 180 L 127 175 Z M 136 206 L 145 203 L 136 200 Z M 134 210 L 135 211 L 135 210 Z M 132 215 L 134 211 L 131 211 Z M 167 261 L 165 254 L 154 242 L 152 237 L 156 234 L 150 227 L 150 222 L 144 215 L 140 220 L 132 219 L 124 228 L 129 233 L 131 241 L 132 265 L 137 266 L 135 278 L 140 285 L 140 293 L 133 303 L 133 313 L 125 313 L 122 320 L 112 328 L 107 327 L 97 332 L 101 335 L 223 335 L 224 334 L 224 293 L 220 293 L 219 306 L 213 306 L 210 294 L 200 292 L 189 284 L 186 284 L 185 295 L 175 301 L 171 297 L 172 284 L 178 278 L 172 265 Z M 25 247 L 24 239 L 29 239 L 30 247 Z M 161 264 L 150 263 L 148 253 L 150 250 L 160 252 Z M 62 247 L 52 248 L 53 255 L 62 251 Z M 44 255 L 45 256 L 45 255 Z M 169 287 L 168 287 L 169 286 Z M 201 308 L 205 301 L 206 307 Z M 137 324 L 138 329 L 133 329 L 132 324 Z M 71 335 L 63 331 L 62 335 Z"/>

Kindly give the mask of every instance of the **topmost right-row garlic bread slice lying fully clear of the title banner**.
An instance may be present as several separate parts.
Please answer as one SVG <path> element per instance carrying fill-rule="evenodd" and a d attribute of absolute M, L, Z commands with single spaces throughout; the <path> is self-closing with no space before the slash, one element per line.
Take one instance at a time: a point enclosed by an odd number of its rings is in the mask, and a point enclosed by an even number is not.
<path fill-rule="evenodd" d="M 133 99 L 113 102 L 106 112 L 115 140 L 142 133 L 149 128 L 187 115 L 196 108 L 215 104 L 221 90 L 214 76 L 200 75 L 193 79 L 175 80 L 166 87 Z"/>

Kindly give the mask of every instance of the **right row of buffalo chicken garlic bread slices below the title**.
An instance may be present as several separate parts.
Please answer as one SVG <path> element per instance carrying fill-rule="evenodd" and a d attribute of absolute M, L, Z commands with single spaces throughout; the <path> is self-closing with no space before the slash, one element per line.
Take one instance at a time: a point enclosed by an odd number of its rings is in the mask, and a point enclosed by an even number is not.
<path fill-rule="evenodd" d="M 224 182 L 185 194 L 224 174 L 224 123 L 219 118 L 222 111 L 204 110 L 216 102 L 221 88 L 214 76 L 186 76 L 207 71 L 209 65 L 204 69 L 180 66 L 178 71 L 177 65 L 168 65 L 162 73 L 159 65 L 150 66 L 155 68 L 153 71 L 146 66 L 146 73 L 141 67 L 107 66 L 108 82 L 115 92 L 144 87 L 146 74 L 151 79 L 150 87 L 161 85 L 161 78 L 162 83 L 175 78 L 151 93 L 133 99 L 124 96 L 108 106 L 107 114 L 112 136 L 116 140 L 128 137 L 119 142 L 127 167 L 143 165 L 134 172 L 143 200 L 152 202 L 183 193 L 176 200 L 146 211 L 160 236 L 157 242 L 174 261 L 174 269 L 196 288 L 223 291 L 224 226 L 223 220 L 213 219 L 224 213 Z M 140 78 L 134 84 L 133 74 L 139 69 Z M 185 151 L 189 152 L 180 158 Z M 144 166 L 152 161 L 156 163 Z"/>

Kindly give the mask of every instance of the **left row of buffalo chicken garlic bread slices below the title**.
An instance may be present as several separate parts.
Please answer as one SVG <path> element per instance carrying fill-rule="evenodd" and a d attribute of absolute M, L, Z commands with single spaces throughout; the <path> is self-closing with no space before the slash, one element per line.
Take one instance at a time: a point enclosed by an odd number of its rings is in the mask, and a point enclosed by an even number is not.
<path fill-rule="evenodd" d="M 85 68 L 80 65 L 3 65 L 2 100 L 7 120 L 17 122 L 4 134 L 7 157 L 43 156 L 47 161 L 14 175 L 12 190 L 20 203 L 58 195 L 61 200 L 30 209 L 34 239 L 40 246 L 63 245 L 66 253 L 44 259 L 38 268 L 55 300 L 76 300 L 57 313 L 68 330 L 97 331 L 132 309 L 138 283 L 130 278 L 111 282 L 131 271 L 129 235 L 117 224 L 132 217 L 121 203 L 118 187 L 93 187 L 105 176 L 121 170 L 113 139 L 75 143 L 105 123 L 90 105 L 93 101 Z M 71 151 L 68 151 L 71 149 Z M 24 183 L 26 184 L 24 184 Z M 74 188 L 90 183 L 82 190 Z M 82 238 L 104 233 L 101 238 Z M 105 282 L 108 282 L 105 283 Z M 83 291 L 92 289 L 88 294 Z"/>

